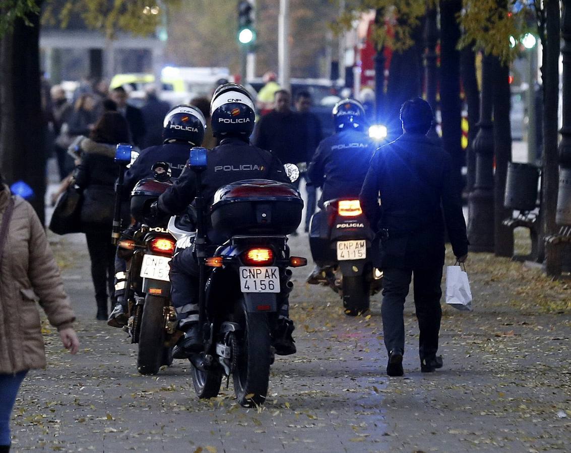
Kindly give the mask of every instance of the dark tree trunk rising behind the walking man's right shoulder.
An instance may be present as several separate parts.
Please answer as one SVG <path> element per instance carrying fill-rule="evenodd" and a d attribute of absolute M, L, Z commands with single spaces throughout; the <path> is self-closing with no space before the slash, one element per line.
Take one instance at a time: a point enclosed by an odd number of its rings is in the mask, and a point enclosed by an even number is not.
<path fill-rule="evenodd" d="M 453 178 L 461 190 L 464 152 L 462 149 L 462 111 L 460 104 L 460 26 L 457 16 L 461 0 L 440 1 L 440 112 L 444 149 L 452 157 Z"/>

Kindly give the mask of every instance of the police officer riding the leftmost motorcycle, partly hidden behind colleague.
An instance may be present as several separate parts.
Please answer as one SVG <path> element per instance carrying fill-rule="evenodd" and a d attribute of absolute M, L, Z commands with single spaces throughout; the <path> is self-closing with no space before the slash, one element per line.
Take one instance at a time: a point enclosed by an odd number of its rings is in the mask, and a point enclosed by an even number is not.
<path fill-rule="evenodd" d="M 177 178 L 183 171 L 188 159 L 188 150 L 200 146 L 204 139 L 206 119 L 198 108 L 179 105 L 173 107 L 163 121 L 163 143 L 140 152 L 134 163 L 124 176 L 123 193 L 130 194 L 139 181 L 151 178 L 153 166 L 157 162 L 168 165 L 171 176 Z M 132 237 L 139 224 L 132 224 L 122 234 L 123 238 Z M 127 300 L 124 297 L 126 285 L 126 262 L 115 258 L 115 308 L 111 312 L 107 324 L 111 327 L 123 327 L 127 324 Z"/>

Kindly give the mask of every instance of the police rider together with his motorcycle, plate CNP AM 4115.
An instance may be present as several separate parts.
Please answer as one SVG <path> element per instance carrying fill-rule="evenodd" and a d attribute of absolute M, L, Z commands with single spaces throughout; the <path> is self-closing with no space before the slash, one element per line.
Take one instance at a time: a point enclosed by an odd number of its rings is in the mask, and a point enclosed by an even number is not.
<path fill-rule="evenodd" d="M 323 188 L 321 211 L 311 220 L 309 245 L 316 267 L 307 282 L 331 286 L 342 294 L 345 313 L 355 316 L 368 309 L 369 293 L 378 290 L 370 285 L 379 277 L 371 263 L 374 234 L 359 205 L 376 144 L 367 135 L 359 102 L 340 100 L 332 114 L 335 134 L 321 141 L 307 172 L 312 184 Z"/>

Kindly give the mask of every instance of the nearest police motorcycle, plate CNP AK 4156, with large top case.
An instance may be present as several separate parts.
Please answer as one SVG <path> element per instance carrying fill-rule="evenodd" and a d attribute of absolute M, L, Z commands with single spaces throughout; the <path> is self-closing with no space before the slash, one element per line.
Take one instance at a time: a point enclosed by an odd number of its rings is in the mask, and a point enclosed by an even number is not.
<path fill-rule="evenodd" d="M 261 405 L 275 358 L 271 332 L 278 321 L 279 294 L 293 288 L 289 267 L 307 264 L 305 258 L 290 256 L 287 245 L 287 234 L 301 221 L 303 200 L 291 185 L 271 180 L 243 180 L 219 188 L 210 212 L 212 230 L 228 239 L 213 248 L 206 236 L 200 194 L 206 159 L 206 149 L 191 150 L 190 168 L 197 176 L 192 214 L 196 230 L 179 217 L 172 217 L 168 225 L 177 247 L 188 246 L 195 237 L 200 266 L 204 348 L 190 358 L 192 382 L 199 398 L 212 398 L 218 395 L 223 377 L 228 386 L 232 375 L 240 405 Z M 294 181 L 299 176 L 295 165 L 286 164 L 286 171 Z"/>

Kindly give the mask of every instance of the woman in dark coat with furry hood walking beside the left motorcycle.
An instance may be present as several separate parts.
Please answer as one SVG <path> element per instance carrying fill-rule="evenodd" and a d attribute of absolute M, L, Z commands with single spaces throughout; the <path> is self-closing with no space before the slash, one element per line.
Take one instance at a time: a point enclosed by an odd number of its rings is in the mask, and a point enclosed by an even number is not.
<path fill-rule="evenodd" d="M 113 294 L 115 247 L 111 244 L 114 184 L 119 176 L 115 147 L 129 139 L 127 122 L 117 112 L 106 112 L 89 139 L 79 145 L 81 163 L 75 171 L 75 184 L 83 190 L 82 224 L 91 258 L 97 319 L 107 320 L 108 295 Z"/>

